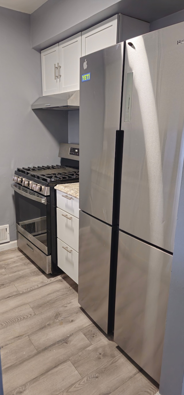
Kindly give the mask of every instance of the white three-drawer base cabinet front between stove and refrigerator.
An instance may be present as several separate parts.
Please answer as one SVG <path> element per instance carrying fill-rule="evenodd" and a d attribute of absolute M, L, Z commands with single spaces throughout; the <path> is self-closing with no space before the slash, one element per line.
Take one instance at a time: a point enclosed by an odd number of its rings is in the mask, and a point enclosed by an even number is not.
<path fill-rule="evenodd" d="M 79 199 L 57 190 L 58 267 L 78 284 Z"/>

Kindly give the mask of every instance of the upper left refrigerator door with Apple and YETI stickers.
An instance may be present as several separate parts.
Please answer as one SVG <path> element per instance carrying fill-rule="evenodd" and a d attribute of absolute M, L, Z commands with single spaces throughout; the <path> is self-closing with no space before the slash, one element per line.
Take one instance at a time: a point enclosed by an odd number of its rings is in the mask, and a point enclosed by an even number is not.
<path fill-rule="evenodd" d="M 124 43 L 119 43 L 80 58 L 79 207 L 108 224 L 113 222 L 123 52 Z"/>

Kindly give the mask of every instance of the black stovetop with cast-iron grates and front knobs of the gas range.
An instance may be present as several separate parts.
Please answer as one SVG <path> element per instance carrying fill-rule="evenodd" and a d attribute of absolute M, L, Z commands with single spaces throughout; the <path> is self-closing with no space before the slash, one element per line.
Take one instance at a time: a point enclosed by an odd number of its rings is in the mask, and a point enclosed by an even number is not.
<path fill-rule="evenodd" d="M 79 181 L 79 171 L 61 165 L 18 167 L 13 181 L 42 195 L 50 194 L 50 186 Z"/>

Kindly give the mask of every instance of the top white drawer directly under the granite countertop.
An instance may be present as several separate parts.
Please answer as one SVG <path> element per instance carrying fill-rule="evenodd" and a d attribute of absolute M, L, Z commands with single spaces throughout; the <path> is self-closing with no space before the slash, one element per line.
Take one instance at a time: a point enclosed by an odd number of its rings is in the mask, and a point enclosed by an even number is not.
<path fill-rule="evenodd" d="M 67 211 L 67 213 L 74 215 L 78 218 L 79 216 L 79 199 L 73 198 L 65 192 L 57 191 L 57 207 L 59 209 Z"/>

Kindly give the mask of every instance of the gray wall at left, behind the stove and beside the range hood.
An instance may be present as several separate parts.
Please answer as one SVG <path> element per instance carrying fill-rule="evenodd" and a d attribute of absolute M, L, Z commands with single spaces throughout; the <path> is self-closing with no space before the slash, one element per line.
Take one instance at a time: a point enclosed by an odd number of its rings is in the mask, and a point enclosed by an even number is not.
<path fill-rule="evenodd" d="M 0 7 L 0 54 L 0 225 L 9 224 L 10 240 L 15 240 L 14 170 L 59 164 L 62 122 L 60 131 L 49 130 L 31 110 L 42 89 L 40 54 L 31 48 L 30 15 Z"/>

